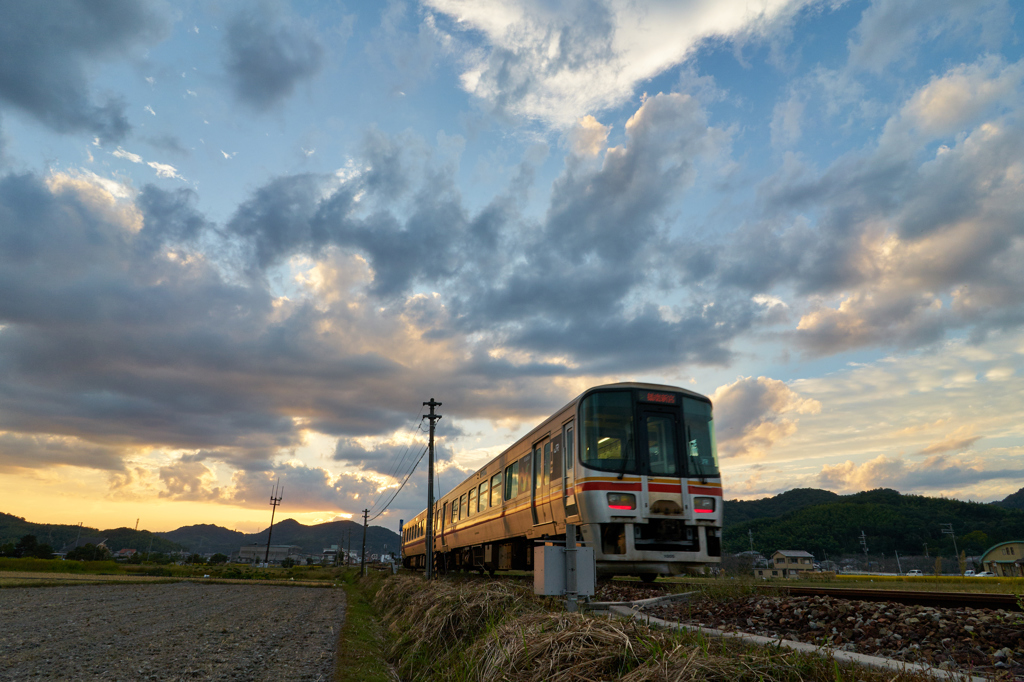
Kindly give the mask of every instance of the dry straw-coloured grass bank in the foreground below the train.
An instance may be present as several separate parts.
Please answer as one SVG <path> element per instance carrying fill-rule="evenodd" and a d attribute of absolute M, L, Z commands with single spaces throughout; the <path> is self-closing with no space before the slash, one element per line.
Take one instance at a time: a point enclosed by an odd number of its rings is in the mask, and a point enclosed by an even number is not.
<path fill-rule="evenodd" d="M 384 582 L 375 597 L 385 655 L 403 680 L 486 682 L 911 682 L 826 655 L 667 632 L 633 621 L 549 611 L 526 586 Z"/>

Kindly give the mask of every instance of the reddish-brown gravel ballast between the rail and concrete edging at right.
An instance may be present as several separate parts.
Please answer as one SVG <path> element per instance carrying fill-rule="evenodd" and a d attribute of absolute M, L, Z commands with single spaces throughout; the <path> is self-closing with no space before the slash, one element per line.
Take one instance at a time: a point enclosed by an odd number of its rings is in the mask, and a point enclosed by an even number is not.
<path fill-rule="evenodd" d="M 658 603 L 644 612 L 676 623 L 1024 679 L 1024 614 L 1014 611 L 752 596 Z"/>

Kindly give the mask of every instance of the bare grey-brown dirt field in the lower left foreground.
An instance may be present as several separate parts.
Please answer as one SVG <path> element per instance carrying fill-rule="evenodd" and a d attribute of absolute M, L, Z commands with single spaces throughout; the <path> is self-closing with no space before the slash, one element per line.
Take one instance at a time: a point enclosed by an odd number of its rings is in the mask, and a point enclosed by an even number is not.
<path fill-rule="evenodd" d="M 0 590 L 0 680 L 330 680 L 340 588 Z"/>

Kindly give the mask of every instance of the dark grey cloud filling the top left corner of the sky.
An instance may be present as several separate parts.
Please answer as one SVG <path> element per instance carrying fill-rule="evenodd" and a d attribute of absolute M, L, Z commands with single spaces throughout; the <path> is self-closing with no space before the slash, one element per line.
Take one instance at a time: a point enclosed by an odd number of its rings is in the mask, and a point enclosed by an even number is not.
<path fill-rule="evenodd" d="M 168 22 L 161 3 L 130 0 L 58 5 L 14 3 L 0 26 L 0 102 L 60 133 L 118 141 L 131 126 L 117 97 L 97 102 L 91 63 L 132 45 L 159 41 Z"/>

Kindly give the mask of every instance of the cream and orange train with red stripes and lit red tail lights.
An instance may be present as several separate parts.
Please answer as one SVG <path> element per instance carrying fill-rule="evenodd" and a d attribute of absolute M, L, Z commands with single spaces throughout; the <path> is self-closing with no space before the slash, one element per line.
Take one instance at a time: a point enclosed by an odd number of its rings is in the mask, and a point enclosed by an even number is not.
<path fill-rule="evenodd" d="M 675 386 L 595 386 L 436 501 L 438 571 L 532 569 L 565 524 L 600 574 L 702 572 L 722 555 L 722 482 L 711 400 Z M 402 529 L 426 564 L 426 510 Z"/>

